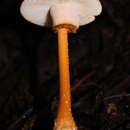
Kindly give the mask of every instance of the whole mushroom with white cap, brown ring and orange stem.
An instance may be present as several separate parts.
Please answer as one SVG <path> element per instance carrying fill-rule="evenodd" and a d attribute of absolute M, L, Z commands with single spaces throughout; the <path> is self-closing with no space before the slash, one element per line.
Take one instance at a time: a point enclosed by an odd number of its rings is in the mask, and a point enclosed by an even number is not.
<path fill-rule="evenodd" d="M 99 0 L 24 0 L 20 10 L 26 20 L 58 33 L 60 96 L 54 130 L 77 130 L 71 112 L 68 32 L 94 21 L 102 6 Z"/>

